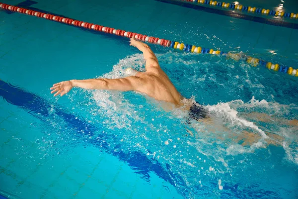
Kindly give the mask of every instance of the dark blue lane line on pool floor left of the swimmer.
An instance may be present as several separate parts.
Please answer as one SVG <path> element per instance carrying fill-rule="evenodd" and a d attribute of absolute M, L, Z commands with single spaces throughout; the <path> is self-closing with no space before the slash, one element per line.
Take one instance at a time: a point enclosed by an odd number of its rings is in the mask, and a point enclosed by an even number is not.
<path fill-rule="evenodd" d="M 62 106 L 51 104 L 49 101 L 36 94 L 8 84 L 2 80 L 0 80 L 0 97 L 12 105 L 28 110 L 28 113 L 43 122 L 47 122 L 47 119 L 54 119 L 53 116 L 55 116 L 55 114 L 58 115 L 77 133 L 77 135 L 72 134 L 73 136 L 77 138 L 85 136 L 87 138 L 86 142 L 96 147 L 103 148 L 104 152 L 117 157 L 119 161 L 126 162 L 135 173 L 140 174 L 141 178 L 145 179 L 147 182 L 150 182 L 149 173 L 153 172 L 175 188 L 177 188 L 176 185 L 180 187 L 186 186 L 181 176 L 175 175 L 170 171 L 170 165 L 165 164 L 166 168 L 164 168 L 156 159 L 150 158 L 146 154 L 138 151 L 115 151 L 117 146 L 118 148 L 120 147 L 120 144 L 117 144 L 115 148 L 109 147 L 107 141 L 112 140 L 113 143 L 120 143 L 120 140 L 113 134 L 102 135 L 102 133 L 98 133 L 96 134 L 96 138 L 93 138 L 93 136 L 95 137 L 94 132 L 103 131 L 103 127 L 94 126 L 82 120 L 77 115 L 64 110 Z M 92 138 L 89 138 L 90 136 L 92 136 Z M 177 192 L 182 196 L 187 195 L 187 190 L 177 189 Z"/>

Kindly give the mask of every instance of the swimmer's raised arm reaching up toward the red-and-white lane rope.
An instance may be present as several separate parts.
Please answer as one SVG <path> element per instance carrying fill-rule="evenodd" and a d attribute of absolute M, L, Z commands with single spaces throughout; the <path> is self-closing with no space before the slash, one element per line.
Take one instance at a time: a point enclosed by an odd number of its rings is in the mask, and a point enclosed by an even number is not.
<path fill-rule="evenodd" d="M 144 59 L 146 60 L 146 70 L 150 69 L 150 67 L 159 68 L 157 58 L 147 44 L 137 41 L 135 38 L 131 38 L 130 45 L 137 47 L 143 52 Z"/>

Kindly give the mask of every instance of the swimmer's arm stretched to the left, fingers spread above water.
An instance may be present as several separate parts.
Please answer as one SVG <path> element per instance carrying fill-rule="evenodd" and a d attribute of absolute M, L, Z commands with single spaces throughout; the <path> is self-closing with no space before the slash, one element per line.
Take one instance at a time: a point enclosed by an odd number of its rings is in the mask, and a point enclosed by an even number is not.
<path fill-rule="evenodd" d="M 51 94 L 54 96 L 64 96 L 74 87 L 82 89 L 96 89 L 96 90 L 118 90 L 118 91 L 132 91 L 137 90 L 140 86 L 138 77 L 126 77 L 120 79 L 88 79 L 88 80 L 70 80 L 54 84 L 51 88 Z"/>

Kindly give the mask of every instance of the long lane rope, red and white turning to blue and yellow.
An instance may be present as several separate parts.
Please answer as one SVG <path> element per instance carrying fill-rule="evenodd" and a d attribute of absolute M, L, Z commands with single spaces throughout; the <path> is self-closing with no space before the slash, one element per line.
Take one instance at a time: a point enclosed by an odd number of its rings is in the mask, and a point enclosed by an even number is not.
<path fill-rule="evenodd" d="M 6 9 L 6 10 L 19 12 L 19 13 L 23 13 L 23 14 L 28 14 L 28 15 L 32 15 L 32 16 L 37 16 L 37 17 L 41 17 L 41 18 L 46 18 L 48 20 L 66 23 L 66 24 L 74 25 L 74 26 L 78 26 L 78 27 L 83 27 L 86 29 L 92 29 L 92 30 L 115 34 L 115 35 L 128 37 L 128 38 L 135 37 L 136 39 L 141 40 L 141 41 L 146 41 L 146 42 L 153 43 L 153 44 L 159 44 L 159 45 L 166 46 L 166 47 L 184 50 L 185 52 L 225 55 L 225 56 L 230 57 L 234 60 L 239 60 L 242 57 L 243 59 L 246 60 L 247 63 L 251 64 L 252 66 L 256 67 L 257 65 L 260 65 L 260 66 L 268 68 L 269 70 L 279 71 L 282 73 L 287 73 L 289 75 L 298 77 L 298 69 L 294 69 L 293 67 L 281 66 L 279 64 L 273 64 L 271 62 L 267 62 L 267 61 L 264 61 L 261 59 L 257 59 L 257 58 L 253 58 L 253 57 L 249 57 L 249 56 L 245 56 L 245 55 L 243 57 L 242 55 L 239 55 L 239 54 L 224 53 L 223 51 L 220 51 L 220 50 L 213 50 L 213 49 L 209 49 L 209 48 L 203 48 L 200 46 L 179 43 L 177 41 L 160 39 L 158 37 L 151 37 L 151 36 L 147 36 L 147 35 L 143 35 L 143 34 L 139 34 L 139 33 L 135 33 L 135 32 L 129 32 L 129 31 L 115 29 L 115 28 L 111 28 L 111 27 L 105 27 L 105 26 L 98 25 L 98 24 L 88 23 L 88 22 L 84 22 L 84 21 L 78 21 L 75 19 L 67 18 L 67 17 L 56 16 L 53 14 L 30 10 L 30 9 L 26 9 L 26 8 L 22 8 L 22 7 L 18 7 L 18 6 L 1 3 L 1 2 L 0 2 L 0 7 L 3 9 Z"/>

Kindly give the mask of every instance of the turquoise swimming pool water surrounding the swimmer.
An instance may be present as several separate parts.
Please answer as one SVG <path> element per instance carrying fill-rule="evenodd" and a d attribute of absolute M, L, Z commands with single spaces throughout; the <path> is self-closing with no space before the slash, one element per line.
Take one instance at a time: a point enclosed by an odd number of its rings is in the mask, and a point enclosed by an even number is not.
<path fill-rule="evenodd" d="M 297 29 L 154 0 L 35 2 L 23 4 L 298 65 Z M 52 84 L 144 70 L 142 55 L 127 38 L 3 10 L 0 18 L 0 195 L 297 198 L 298 129 L 287 123 L 298 118 L 297 77 L 151 45 L 177 89 L 205 104 L 214 124 L 188 124 L 186 112 L 164 111 L 134 92 L 74 90 L 58 99 Z M 272 117 L 259 120 L 255 112 Z M 276 135 L 272 144 L 262 132 Z"/>

